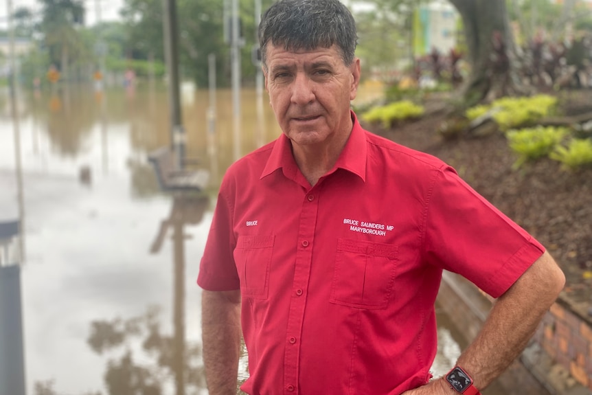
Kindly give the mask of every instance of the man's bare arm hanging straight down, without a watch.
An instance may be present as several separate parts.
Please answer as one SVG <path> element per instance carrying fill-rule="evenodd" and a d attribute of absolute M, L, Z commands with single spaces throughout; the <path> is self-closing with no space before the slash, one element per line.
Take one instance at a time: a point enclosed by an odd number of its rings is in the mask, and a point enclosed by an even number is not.
<path fill-rule="evenodd" d="M 210 395 L 235 395 L 240 356 L 240 291 L 203 291 L 201 325 Z"/>

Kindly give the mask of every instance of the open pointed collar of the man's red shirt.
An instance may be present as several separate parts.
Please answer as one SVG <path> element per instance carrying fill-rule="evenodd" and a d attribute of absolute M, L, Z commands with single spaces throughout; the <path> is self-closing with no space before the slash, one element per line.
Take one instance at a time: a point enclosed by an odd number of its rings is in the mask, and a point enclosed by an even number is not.
<path fill-rule="evenodd" d="M 354 124 L 352 133 L 348 142 L 345 143 L 345 147 L 343 147 L 334 168 L 329 173 L 342 168 L 356 174 L 362 181 L 366 181 L 366 136 L 354 111 L 351 111 L 351 115 Z M 279 168 L 282 168 L 286 177 L 290 178 L 294 177 L 295 173 L 299 171 L 292 155 L 292 144 L 284 133 L 275 140 L 261 178 L 268 176 Z"/>

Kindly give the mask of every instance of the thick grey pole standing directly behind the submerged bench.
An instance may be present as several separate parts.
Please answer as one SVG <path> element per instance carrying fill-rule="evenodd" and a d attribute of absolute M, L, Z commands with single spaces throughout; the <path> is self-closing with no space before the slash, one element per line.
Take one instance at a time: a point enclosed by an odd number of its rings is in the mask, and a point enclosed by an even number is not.
<path fill-rule="evenodd" d="M 168 70 L 169 108 L 172 126 L 171 146 L 177 154 L 177 167 L 185 167 L 185 130 L 181 120 L 179 93 L 179 49 L 177 44 L 177 1 L 162 0 L 164 12 L 164 38 Z"/>

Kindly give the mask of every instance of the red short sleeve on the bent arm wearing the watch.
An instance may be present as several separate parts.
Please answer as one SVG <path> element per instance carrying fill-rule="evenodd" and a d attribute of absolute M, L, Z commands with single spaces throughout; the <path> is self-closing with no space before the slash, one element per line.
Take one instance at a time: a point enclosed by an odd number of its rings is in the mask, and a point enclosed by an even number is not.
<path fill-rule="evenodd" d="M 437 170 L 426 203 L 424 256 L 499 297 L 545 251 L 448 166 Z"/>

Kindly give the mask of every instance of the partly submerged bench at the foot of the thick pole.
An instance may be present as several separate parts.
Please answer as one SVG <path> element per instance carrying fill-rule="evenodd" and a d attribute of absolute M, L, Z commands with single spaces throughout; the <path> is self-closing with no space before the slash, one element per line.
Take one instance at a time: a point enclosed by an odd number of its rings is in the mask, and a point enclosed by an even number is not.
<path fill-rule="evenodd" d="M 200 191 L 209 179 L 207 170 L 179 169 L 174 153 L 168 147 L 162 147 L 148 155 L 148 161 L 155 169 L 161 190 L 165 191 Z"/>

